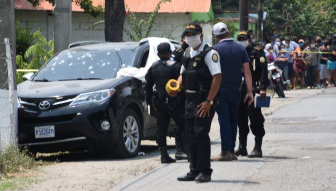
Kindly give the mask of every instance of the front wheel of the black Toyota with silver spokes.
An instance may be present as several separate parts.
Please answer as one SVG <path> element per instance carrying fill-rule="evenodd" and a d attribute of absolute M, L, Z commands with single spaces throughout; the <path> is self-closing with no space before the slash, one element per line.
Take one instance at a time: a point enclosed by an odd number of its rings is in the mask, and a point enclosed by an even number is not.
<path fill-rule="evenodd" d="M 135 157 L 141 145 L 142 128 L 136 113 L 126 108 L 118 128 L 118 142 L 112 147 L 112 155 L 119 158 Z"/>

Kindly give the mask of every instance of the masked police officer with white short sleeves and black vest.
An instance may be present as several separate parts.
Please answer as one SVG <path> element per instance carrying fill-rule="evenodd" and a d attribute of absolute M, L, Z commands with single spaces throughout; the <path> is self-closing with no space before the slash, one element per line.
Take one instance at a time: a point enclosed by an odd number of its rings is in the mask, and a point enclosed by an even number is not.
<path fill-rule="evenodd" d="M 221 81 L 219 55 L 203 41 L 199 24 L 186 25 L 184 32 L 189 47 L 181 59 L 178 81 L 186 92 L 185 126 L 191 161 L 190 171 L 177 180 L 207 182 L 212 173 L 208 133 L 216 107 L 213 102 L 216 102 Z"/>

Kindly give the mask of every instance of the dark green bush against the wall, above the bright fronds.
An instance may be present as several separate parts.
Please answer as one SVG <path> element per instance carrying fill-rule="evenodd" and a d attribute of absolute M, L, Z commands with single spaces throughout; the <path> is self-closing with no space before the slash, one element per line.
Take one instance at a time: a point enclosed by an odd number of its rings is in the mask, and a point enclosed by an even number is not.
<path fill-rule="evenodd" d="M 33 36 L 30 30 L 30 25 L 27 25 L 25 28 L 21 28 L 19 21 L 17 19 L 15 20 L 16 54 L 23 56 L 25 50 L 32 45 Z"/>

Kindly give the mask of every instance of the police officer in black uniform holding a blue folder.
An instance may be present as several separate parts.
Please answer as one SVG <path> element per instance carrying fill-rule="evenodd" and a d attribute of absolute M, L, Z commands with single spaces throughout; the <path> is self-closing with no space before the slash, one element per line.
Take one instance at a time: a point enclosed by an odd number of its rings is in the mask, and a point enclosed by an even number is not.
<path fill-rule="evenodd" d="M 267 87 L 267 60 L 263 49 L 253 46 L 251 38 L 247 31 L 240 31 L 237 36 L 240 44 L 244 45 L 249 56 L 249 68 L 252 74 L 253 96 L 255 93 L 261 95 L 262 99 L 266 98 Z M 241 95 L 246 94 L 246 84 L 243 82 L 241 85 Z M 241 96 L 243 98 L 243 96 Z M 249 127 L 255 136 L 255 145 L 251 153 L 247 154 L 246 142 L 247 134 L 249 132 L 248 119 L 250 121 Z M 264 118 L 261 113 L 261 108 L 255 108 L 254 103 L 247 106 L 240 100 L 238 107 L 238 128 L 239 128 L 239 146 L 234 152 L 235 155 L 242 155 L 247 157 L 262 157 L 261 143 L 262 137 L 265 135 L 263 128 Z"/>

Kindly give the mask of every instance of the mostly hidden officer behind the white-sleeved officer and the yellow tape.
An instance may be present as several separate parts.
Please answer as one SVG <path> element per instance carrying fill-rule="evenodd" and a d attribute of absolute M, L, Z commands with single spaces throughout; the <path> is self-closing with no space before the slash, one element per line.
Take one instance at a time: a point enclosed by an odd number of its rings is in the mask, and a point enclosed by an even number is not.
<path fill-rule="evenodd" d="M 177 62 L 176 64 L 181 64 L 181 58 L 184 54 L 184 51 L 189 46 L 187 43 L 185 43 L 184 32 L 181 35 L 181 42 L 182 42 L 181 47 L 172 51 L 171 58 L 170 58 L 171 60 L 176 61 Z M 184 102 L 185 93 L 183 91 L 181 92 L 180 96 L 181 96 L 181 99 L 184 98 L 183 99 L 183 102 Z M 175 159 L 176 160 L 188 159 L 189 152 L 188 152 L 187 141 L 182 140 L 181 132 L 177 126 L 174 128 L 174 137 L 175 137 L 175 145 L 176 145 Z"/>

